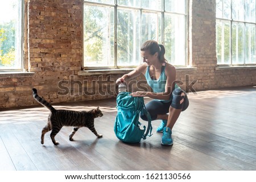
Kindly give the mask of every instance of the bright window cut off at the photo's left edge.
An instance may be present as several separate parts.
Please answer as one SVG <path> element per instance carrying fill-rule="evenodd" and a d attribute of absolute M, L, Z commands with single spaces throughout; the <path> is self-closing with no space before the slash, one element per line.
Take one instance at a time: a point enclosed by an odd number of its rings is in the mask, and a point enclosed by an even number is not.
<path fill-rule="evenodd" d="M 0 71 L 21 70 L 23 1 L 0 1 Z"/>

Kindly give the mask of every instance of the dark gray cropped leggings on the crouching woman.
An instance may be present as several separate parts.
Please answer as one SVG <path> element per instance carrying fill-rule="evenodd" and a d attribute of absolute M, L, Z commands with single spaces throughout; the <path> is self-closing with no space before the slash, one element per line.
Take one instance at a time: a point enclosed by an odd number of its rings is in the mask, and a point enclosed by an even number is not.
<path fill-rule="evenodd" d="M 172 100 L 170 102 L 162 102 L 159 100 L 152 100 L 146 104 L 146 109 L 151 115 L 151 119 L 155 120 L 158 114 L 167 114 L 169 113 L 170 106 L 174 107 L 175 109 L 182 109 L 184 111 L 188 108 L 189 101 L 188 96 L 179 88 L 174 89 L 172 91 Z M 147 117 L 144 114 L 141 114 L 141 118 L 144 121 L 147 121 Z"/>

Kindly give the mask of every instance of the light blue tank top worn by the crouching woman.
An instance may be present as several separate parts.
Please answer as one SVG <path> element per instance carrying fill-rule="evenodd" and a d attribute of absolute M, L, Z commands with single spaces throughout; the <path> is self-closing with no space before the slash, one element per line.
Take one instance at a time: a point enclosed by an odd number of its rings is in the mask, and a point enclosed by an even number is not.
<path fill-rule="evenodd" d="M 165 92 L 165 90 L 166 90 L 166 73 L 165 73 L 166 64 L 163 63 L 161 75 L 158 78 L 158 80 L 153 80 L 150 77 L 149 69 L 150 69 L 150 67 L 147 67 L 147 70 L 145 73 L 147 84 L 152 88 L 153 92 L 155 92 L 155 93 Z M 159 101 L 170 102 L 171 100 L 172 100 L 172 96 L 170 96 L 169 100 L 159 100 Z"/>

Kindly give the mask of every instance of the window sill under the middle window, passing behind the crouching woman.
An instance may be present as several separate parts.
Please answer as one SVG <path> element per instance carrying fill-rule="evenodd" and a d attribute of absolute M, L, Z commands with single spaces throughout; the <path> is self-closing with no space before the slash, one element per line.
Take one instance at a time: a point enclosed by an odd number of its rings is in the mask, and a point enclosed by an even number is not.
<path fill-rule="evenodd" d="M 195 67 L 176 67 L 177 71 L 193 71 Z M 119 68 L 119 69 L 85 69 L 79 71 L 79 76 L 91 76 L 91 75 L 113 75 L 113 74 L 126 74 L 133 71 L 134 68 Z"/>

